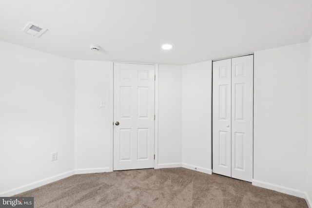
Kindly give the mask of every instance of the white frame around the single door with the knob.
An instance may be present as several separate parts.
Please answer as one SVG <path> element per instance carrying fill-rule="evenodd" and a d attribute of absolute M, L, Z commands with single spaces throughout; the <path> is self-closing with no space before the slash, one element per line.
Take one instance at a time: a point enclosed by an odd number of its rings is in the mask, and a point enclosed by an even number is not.
<path fill-rule="evenodd" d="M 114 170 L 114 63 L 128 63 L 128 64 L 146 64 L 155 66 L 155 121 L 154 121 L 154 169 L 158 168 L 158 64 L 151 63 L 132 63 L 132 62 L 118 62 L 111 61 L 109 69 L 109 121 L 112 124 L 109 128 L 110 140 L 110 167 L 109 171 Z"/>

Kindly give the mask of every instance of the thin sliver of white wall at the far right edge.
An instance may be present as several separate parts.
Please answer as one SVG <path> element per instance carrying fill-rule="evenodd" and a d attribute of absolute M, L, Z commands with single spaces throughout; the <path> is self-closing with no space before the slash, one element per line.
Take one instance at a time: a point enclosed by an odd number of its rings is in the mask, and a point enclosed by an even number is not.
<path fill-rule="evenodd" d="M 309 41 L 308 52 L 308 113 L 307 113 L 307 174 L 306 191 L 312 207 L 312 37 Z"/>

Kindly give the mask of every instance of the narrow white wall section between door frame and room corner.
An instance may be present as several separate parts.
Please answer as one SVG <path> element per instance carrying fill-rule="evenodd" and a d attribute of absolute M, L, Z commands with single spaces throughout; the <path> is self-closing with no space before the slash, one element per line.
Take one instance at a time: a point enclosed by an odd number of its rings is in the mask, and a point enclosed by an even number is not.
<path fill-rule="evenodd" d="M 158 168 L 181 167 L 182 66 L 158 67 Z"/>

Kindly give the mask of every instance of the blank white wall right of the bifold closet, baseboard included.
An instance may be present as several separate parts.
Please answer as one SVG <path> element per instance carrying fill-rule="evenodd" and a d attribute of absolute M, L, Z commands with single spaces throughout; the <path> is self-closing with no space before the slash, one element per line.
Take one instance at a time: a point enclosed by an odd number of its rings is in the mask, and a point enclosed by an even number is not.
<path fill-rule="evenodd" d="M 254 185 L 304 197 L 307 52 L 301 43 L 254 53 Z"/>

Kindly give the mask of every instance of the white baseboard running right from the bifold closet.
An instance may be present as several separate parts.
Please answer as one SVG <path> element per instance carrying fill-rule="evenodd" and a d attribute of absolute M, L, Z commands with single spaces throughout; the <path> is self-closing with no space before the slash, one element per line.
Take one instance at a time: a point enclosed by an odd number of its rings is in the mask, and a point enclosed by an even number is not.
<path fill-rule="evenodd" d="M 304 192 L 304 191 L 292 189 L 292 188 L 288 188 L 288 187 L 283 187 L 283 186 L 279 186 L 276 184 L 271 184 L 271 183 L 267 183 L 267 182 L 263 182 L 263 181 L 253 180 L 252 184 L 254 186 L 257 186 L 257 187 L 276 190 L 276 191 L 281 192 L 281 193 L 286 193 L 286 194 L 296 196 L 296 197 L 300 197 L 300 198 L 304 198 L 304 199 L 307 196 L 306 192 Z"/>

